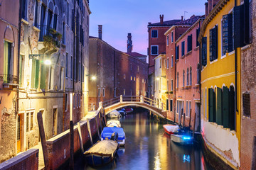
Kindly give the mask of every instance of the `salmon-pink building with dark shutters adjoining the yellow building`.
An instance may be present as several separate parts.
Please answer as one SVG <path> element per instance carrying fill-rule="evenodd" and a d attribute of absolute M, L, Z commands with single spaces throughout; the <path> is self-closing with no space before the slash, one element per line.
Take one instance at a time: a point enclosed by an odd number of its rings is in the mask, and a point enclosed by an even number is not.
<path fill-rule="evenodd" d="M 201 21 L 199 18 L 176 40 L 175 121 L 189 127 L 191 130 L 195 128 L 198 132 L 200 132 L 200 129 L 198 129 L 200 122 L 200 64 L 197 38 Z"/>

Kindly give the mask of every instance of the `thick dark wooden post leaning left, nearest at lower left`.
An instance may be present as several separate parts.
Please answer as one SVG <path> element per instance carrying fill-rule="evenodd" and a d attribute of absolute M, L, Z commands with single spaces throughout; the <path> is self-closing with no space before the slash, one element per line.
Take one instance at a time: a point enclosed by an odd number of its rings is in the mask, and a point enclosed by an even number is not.
<path fill-rule="evenodd" d="M 39 128 L 39 134 L 41 137 L 41 145 L 43 149 L 43 161 L 45 163 L 45 169 L 49 169 L 49 159 L 48 159 L 48 152 L 47 152 L 47 146 L 46 146 L 46 135 L 43 129 L 43 118 L 42 118 L 42 113 L 38 112 L 37 114 L 37 119 L 38 119 L 38 128 Z"/>

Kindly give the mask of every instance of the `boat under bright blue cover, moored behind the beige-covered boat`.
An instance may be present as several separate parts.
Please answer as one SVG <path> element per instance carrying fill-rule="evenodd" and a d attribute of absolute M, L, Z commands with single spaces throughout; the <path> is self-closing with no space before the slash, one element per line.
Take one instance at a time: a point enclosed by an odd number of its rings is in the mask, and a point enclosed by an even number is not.
<path fill-rule="evenodd" d="M 123 128 L 117 128 L 117 127 L 105 127 L 102 130 L 102 133 L 100 135 L 101 140 L 107 140 L 111 138 L 111 135 L 113 132 L 118 133 L 117 142 L 119 145 L 125 144 L 125 133 Z"/>

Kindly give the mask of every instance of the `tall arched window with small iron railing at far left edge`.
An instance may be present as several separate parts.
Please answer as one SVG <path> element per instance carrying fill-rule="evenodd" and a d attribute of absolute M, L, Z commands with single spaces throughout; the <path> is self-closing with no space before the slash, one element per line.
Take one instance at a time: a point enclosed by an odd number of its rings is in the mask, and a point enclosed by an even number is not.
<path fill-rule="evenodd" d="M 4 83 L 11 83 L 11 79 L 9 78 L 10 74 L 13 74 L 13 60 L 14 57 L 12 55 L 13 47 L 11 47 L 12 43 L 4 40 Z"/>

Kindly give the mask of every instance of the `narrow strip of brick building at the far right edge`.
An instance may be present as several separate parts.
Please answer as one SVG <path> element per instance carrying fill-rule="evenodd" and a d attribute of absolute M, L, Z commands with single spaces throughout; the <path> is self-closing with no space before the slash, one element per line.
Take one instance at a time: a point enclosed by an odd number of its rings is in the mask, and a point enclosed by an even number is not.
<path fill-rule="evenodd" d="M 256 1 L 243 1 L 248 4 L 246 13 L 249 21 L 249 43 L 241 48 L 241 166 L 240 169 L 255 169 L 255 119 L 256 119 L 256 57 L 255 57 L 255 5 Z M 247 23 L 248 24 L 248 23 Z"/>

